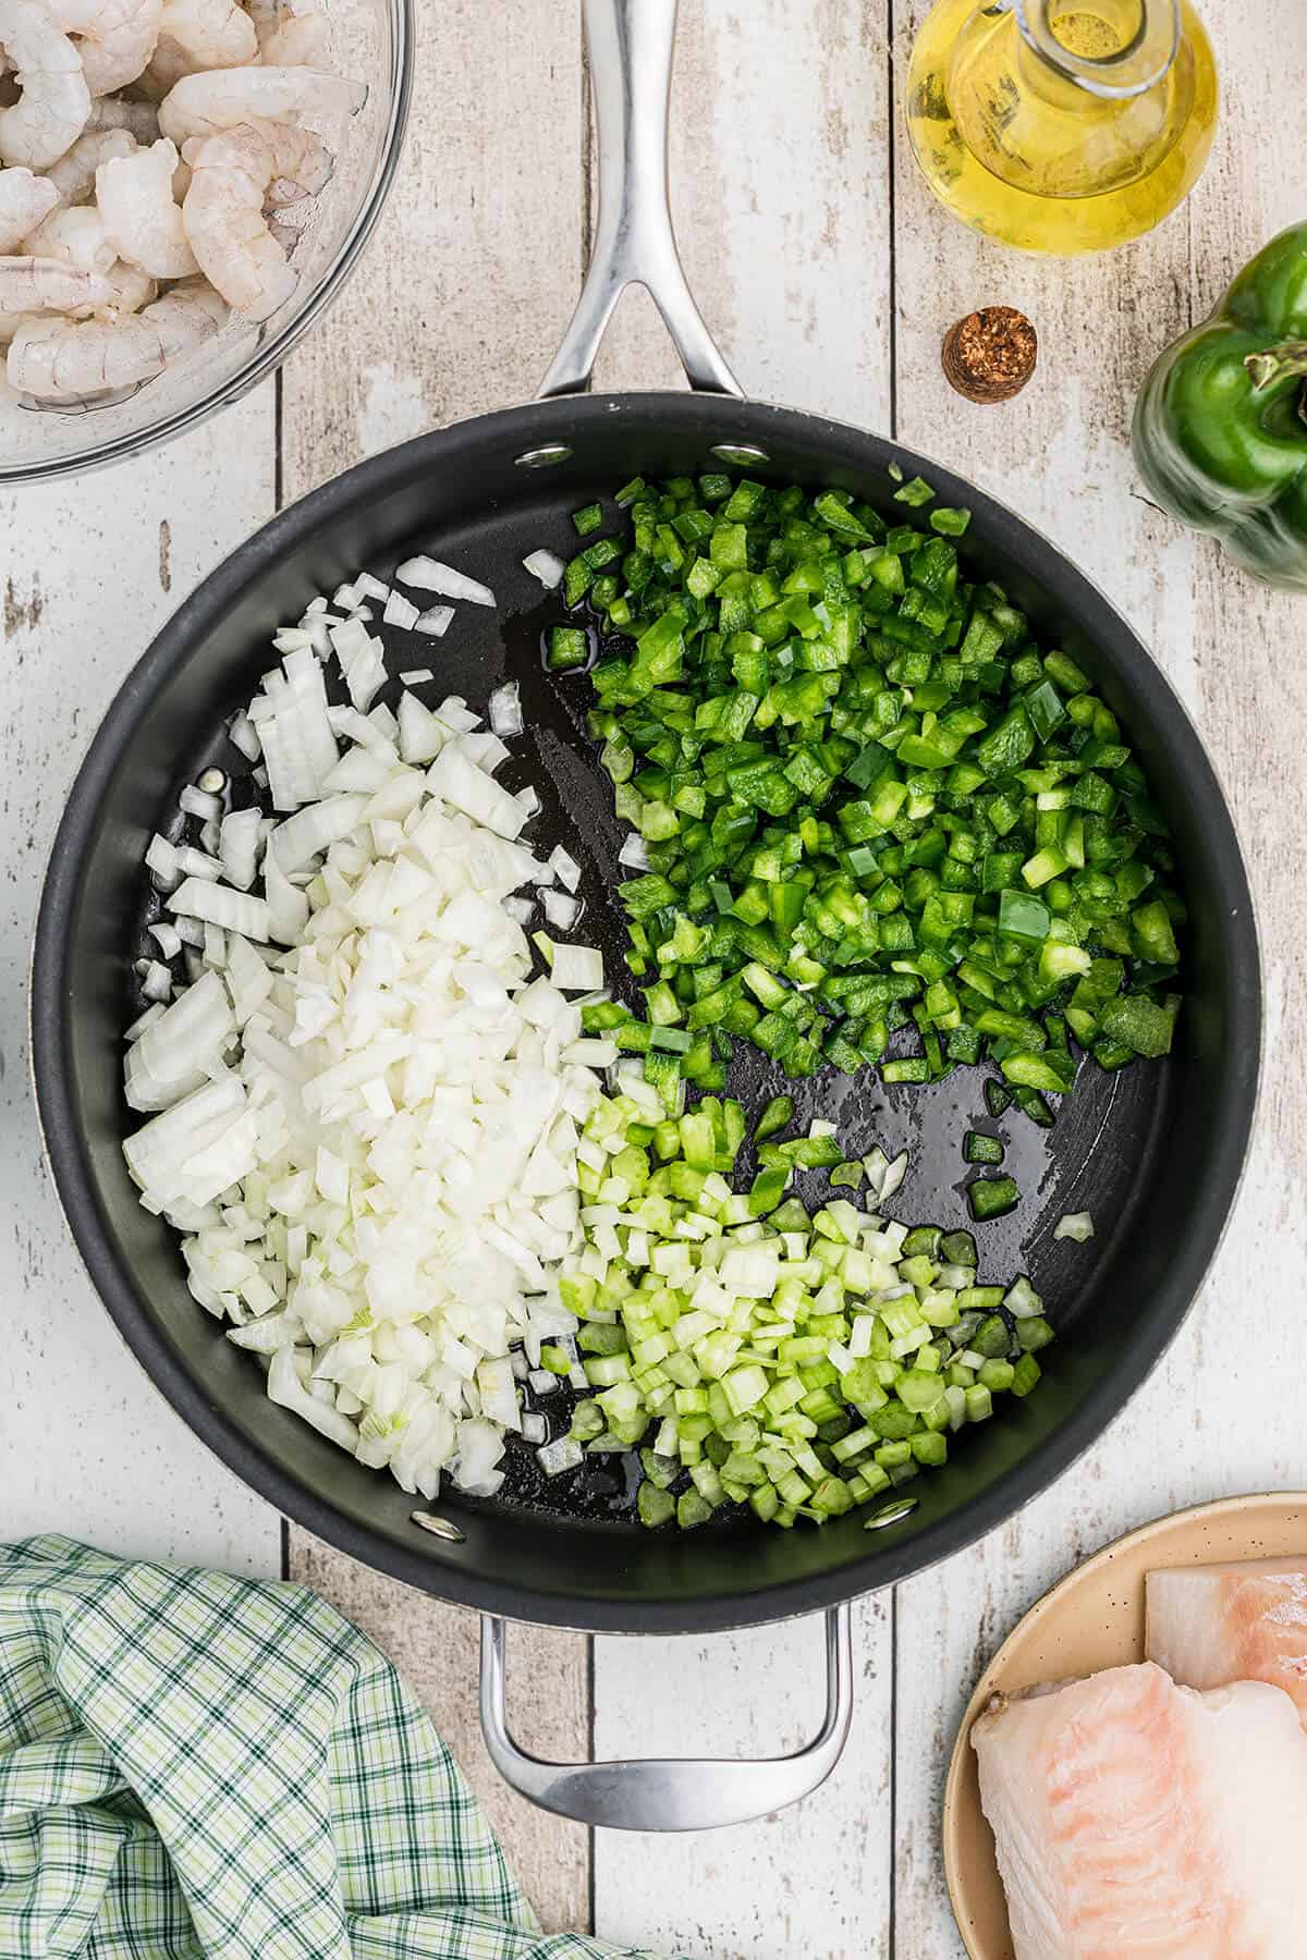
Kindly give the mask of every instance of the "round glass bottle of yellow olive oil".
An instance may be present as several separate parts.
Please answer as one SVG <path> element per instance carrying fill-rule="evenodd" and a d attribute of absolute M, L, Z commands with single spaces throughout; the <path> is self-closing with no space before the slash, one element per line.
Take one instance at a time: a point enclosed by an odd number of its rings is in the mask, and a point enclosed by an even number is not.
<path fill-rule="evenodd" d="M 931 190 L 976 231 L 1103 251 L 1197 182 L 1217 67 L 1189 0 L 937 0 L 907 127 Z"/>

